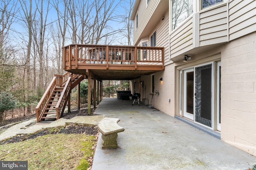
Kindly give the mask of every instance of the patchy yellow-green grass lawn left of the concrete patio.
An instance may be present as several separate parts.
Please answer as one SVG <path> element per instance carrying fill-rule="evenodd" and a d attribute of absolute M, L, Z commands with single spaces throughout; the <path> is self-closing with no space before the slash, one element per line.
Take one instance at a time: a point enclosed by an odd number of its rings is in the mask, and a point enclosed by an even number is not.
<path fill-rule="evenodd" d="M 29 170 L 86 170 L 90 166 L 88 160 L 94 155 L 95 143 L 95 136 L 85 134 L 45 135 L 0 145 L 0 160 L 26 160 Z"/>

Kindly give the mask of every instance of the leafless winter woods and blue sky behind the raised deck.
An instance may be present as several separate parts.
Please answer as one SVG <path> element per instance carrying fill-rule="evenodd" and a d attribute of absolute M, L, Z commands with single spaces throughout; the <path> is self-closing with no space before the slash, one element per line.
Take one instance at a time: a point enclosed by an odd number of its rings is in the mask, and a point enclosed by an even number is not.
<path fill-rule="evenodd" d="M 14 117 L 18 113 L 22 116 L 34 113 L 33 106 L 54 74 L 64 74 L 64 45 L 131 45 L 132 42 L 132 0 L 0 0 L 0 3 L 0 94 L 8 92 L 13 96 L 15 107 L 4 111 L 12 109 Z M 0 102 L 3 100 L 0 98 Z"/>

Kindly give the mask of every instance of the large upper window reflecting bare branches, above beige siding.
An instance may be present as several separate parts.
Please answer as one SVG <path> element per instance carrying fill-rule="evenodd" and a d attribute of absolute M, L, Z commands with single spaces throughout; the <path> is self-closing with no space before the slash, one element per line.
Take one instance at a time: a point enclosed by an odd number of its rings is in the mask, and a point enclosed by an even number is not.
<path fill-rule="evenodd" d="M 191 14 L 193 14 L 193 0 L 172 0 L 172 30 L 180 26 Z"/>

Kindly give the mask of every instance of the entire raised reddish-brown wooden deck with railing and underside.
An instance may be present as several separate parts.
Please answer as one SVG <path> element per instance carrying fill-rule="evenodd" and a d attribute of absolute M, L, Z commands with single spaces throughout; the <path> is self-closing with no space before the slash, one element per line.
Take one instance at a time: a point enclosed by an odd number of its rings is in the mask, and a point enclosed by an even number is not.
<path fill-rule="evenodd" d="M 100 80 L 132 80 L 164 70 L 164 47 L 71 44 L 63 47 L 63 69 Z"/>

